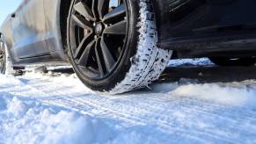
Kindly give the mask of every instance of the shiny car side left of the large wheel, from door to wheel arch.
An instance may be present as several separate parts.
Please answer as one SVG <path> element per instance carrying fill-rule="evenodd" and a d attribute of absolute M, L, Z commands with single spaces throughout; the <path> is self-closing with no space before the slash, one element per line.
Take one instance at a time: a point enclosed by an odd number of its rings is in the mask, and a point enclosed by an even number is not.
<path fill-rule="evenodd" d="M 1 30 L 14 64 L 67 60 L 60 32 L 60 0 L 25 0 Z"/>

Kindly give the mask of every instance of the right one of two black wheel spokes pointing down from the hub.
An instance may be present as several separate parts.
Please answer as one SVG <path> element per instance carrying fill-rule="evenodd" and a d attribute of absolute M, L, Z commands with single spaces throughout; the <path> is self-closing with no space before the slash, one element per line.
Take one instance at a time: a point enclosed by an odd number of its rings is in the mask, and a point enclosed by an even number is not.
<path fill-rule="evenodd" d="M 101 47 L 101 52 L 103 54 L 106 70 L 109 72 L 111 71 L 111 69 L 113 68 L 113 65 L 115 64 L 113 55 L 109 51 L 109 48 L 106 46 L 106 43 L 103 38 L 100 40 L 100 47 Z"/>

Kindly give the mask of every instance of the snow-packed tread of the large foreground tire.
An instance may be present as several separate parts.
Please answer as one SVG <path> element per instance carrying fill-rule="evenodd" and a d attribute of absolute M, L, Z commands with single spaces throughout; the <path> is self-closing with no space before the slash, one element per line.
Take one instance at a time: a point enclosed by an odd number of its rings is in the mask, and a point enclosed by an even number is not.
<path fill-rule="evenodd" d="M 118 94 L 148 87 L 165 70 L 172 51 L 157 47 L 157 28 L 151 0 L 140 0 L 139 41 L 125 79 L 110 93 Z"/>

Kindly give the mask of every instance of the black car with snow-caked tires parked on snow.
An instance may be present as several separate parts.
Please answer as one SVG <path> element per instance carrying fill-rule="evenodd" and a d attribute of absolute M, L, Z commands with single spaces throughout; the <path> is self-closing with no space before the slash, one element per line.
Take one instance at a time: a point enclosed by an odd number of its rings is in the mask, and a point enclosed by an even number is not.
<path fill-rule="evenodd" d="M 65 62 L 91 90 L 121 93 L 157 80 L 171 56 L 253 65 L 256 1 L 24 0 L 1 41 L 3 74 Z"/>

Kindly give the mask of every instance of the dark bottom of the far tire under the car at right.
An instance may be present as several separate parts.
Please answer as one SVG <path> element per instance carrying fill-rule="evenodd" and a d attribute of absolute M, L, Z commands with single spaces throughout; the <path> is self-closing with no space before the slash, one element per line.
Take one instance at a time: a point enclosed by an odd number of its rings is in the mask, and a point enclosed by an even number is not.
<path fill-rule="evenodd" d="M 253 66 L 256 59 L 252 57 L 244 58 L 226 58 L 226 57 L 211 57 L 210 61 L 218 66 Z"/>

